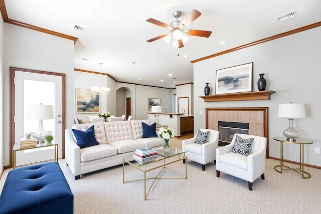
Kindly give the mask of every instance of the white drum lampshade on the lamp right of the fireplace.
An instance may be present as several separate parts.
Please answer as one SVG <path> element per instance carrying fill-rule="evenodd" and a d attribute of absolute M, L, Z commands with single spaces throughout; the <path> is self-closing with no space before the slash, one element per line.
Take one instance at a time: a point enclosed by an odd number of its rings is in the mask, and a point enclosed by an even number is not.
<path fill-rule="evenodd" d="M 279 104 L 277 116 L 287 117 L 287 118 L 304 118 L 305 117 L 304 104 L 302 103 Z"/>

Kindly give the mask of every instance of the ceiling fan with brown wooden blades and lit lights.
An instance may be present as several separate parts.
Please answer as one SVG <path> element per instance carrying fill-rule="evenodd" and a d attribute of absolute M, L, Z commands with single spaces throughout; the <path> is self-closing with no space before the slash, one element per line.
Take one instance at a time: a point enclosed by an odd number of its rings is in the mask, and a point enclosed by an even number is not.
<path fill-rule="evenodd" d="M 154 20 L 152 18 L 149 18 L 146 20 L 146 22 L 149 22 L 151 24 L 154 25 L 158 25 L 161 26 L 163 28 L 166 28 L 168 30 L 170 30 L 171 32 L 168 34 L 163 34 L 157 37 L 154 37 L 150 40 L 147 40 L 147 42 L 153 42 L 155 40 L 173 35 L 174 38 L 174 46 L 178 47 L 178 48 L 183 48 L 184 44 L 183 44 L 183 40 L 184 39 L 188 39 L 187 35 L 190 36 L 196 36 L 196 37 L 206 37 L 208 38 L 211 34 L 212 31 L 202 31 L 202 30 L 192 30 L 192 29 L 188 29 L 186 30 L 185 28 L 190 25 L 192 22 L 194 22 L 197 18 L 199 18 L 202 14 L 197 11 L 197 10 L 192 10 L 191 13 L 189 13 L 189 15 L 183 20 L 183 21 L 179 21 L 178 19 L 181 17 L 181 12 L 180 11 L 175 11 L 173 13 L 174 18 L 176 18 L 176 21 L 170 23 L 170 25 L 167 25 L 165 23 L 159 22 L 157 20 Z"/>

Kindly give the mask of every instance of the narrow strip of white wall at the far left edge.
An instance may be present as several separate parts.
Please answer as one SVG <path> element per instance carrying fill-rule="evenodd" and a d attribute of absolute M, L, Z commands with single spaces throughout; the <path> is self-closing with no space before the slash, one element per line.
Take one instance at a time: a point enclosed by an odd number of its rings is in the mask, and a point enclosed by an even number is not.
<path fill-rule="evenodd" d="M 1 171 L 4 167 L 4 132 L 3 132 L 3 127 L 4 127 L 4 93 L 5 93 L 5 88 L 3 85 L 4 82 L 4 22 L 0 22 L 0 88 L 1 88 L 1 93 L 0 93 L 0 174 Z"/>

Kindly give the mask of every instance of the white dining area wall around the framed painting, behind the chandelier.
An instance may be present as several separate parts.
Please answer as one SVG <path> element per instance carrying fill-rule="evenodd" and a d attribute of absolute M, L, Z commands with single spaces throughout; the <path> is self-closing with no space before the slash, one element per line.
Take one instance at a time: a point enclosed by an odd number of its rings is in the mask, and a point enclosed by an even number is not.
<path fill-rule="evenodd" d="M 74 71 L 74 99 L 76 99 L 76 88 L 90 89 L 92 86 L 98 86 L 99 82 L 100 82 L 100 74 Z M 115 92 L 116 82 L 106 75 L 102 75 L 101 82 L 104 87 L 110 88 L 110 94 L 100 95 L 100 112 L 108 111 L 115 115 L 116 112 L 115 112 L 115 107 L 113 105 L 113 97 L 114 97 L 113 93 Z M 76 118 L 82 119 L 83 121 L 88 121 L 89 116 L 98 115 L 98 113 L 76 114 L 76 107 L 74 106 L 73 115 Z"/>

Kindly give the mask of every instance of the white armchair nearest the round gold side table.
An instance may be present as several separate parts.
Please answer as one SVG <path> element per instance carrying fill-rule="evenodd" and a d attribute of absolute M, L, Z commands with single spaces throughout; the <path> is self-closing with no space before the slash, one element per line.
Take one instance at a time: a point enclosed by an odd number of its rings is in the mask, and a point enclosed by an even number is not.
<path fill-rule="evenodd" d="M 243 139 L 254 138 L 248 156 L 232 152 L 235 144 L 235 136 Z M 266 138 L 247 134 L 234 134 L 232 142 L 216 149 L 216 176 L 220 172 L 230 174 L 248 182 L 249 190 L 252 190 L 253 181 L 261 175 L 264 180 L 265 172 Z"/>

